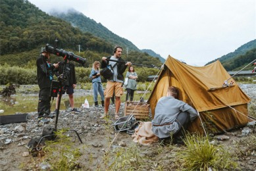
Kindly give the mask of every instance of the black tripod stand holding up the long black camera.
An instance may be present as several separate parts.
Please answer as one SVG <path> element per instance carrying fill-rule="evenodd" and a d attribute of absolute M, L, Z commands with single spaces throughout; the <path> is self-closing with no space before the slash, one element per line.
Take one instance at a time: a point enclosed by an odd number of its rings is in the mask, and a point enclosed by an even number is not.
<path fill-rule="evenodd" d="M 51 84 L 51 97 L 57 97 L 58 95 L 58 92 L 59 92 L 59 101 L 58 101 L 58 104 L 57 104 L 57 112 L 56 112 L 56 119 L 55 119 L 55 128 L 53 129 L 53 132 L 51 132 L 51 134 L 49 135 L 43 135 L 41 137 L 41 139 L 39 140 L 38 142 L 38 145 L 36 146 L 36 148 L 38 149 L 38 146 L 39 144 L 41 143 L 41 141 L 43 139 L 45 139 L 45 137 L 53 137 L 53 139 L 55 139 L 56 135 L 54 132 L 57 132 L 57 125 L 58 125 L 58 120 L 59 120 L 59 109 L 61 107 L 61 97 L 63 96 L 63 93 L 65 92 L 64 89 L 63 89 L 63 82 L 64 82 L 64 79 L 66 79 L 66 63 L 67 63 L 68 59 L 64 57 L 64 66 L 63 66 L 63 70 L 62 70 L 62 74 L 59 75 L 58 77 L 58 82 L 57 81 L 53 81 L 52 84 Z M 76 132 L 76 130 L 72 130 L 72 129 L 68 129 L 68 128 L 61 128 L 61 130 L 68 130 L 68 131 L 72 131 L 72 132 L 75 132 L 76 135 L 78 136 L 78 139 L 80 141 L 80 143 L 83 143 L 82 142 L 82 139 L 80 138 L 78 132 Z"/>

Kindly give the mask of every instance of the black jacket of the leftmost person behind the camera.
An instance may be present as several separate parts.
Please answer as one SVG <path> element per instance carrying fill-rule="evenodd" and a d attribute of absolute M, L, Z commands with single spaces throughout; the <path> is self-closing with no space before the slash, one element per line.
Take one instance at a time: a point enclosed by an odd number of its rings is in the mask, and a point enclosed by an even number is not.
<path fill-rule="evenodd" d="M 49 66 L 48 66 L 48 64 Z M 53 64 L 47 62 L 47 57 L 39 55 L 36 60 L 37 74 L 38 74 L 38 85 L 40 89 L 51 87 L 50 76 L 53 76 Z"/>

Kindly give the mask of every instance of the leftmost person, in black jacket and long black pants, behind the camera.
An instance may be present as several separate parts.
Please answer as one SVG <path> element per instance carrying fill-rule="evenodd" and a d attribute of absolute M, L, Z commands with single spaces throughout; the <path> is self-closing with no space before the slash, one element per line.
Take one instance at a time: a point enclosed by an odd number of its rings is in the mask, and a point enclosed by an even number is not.
<path fill-rule="evenodd" d="M 36 66 L 38 74 L 38 86 L 39 86 L 39 101 L 38 101 L 38 119 L 48 117 L 51 114 L 51 97 L 50 89 L 51 82 L 53 80 L 53 69 L 58 68 L 59 64 L 51 64 L 49 62 L 50 53 L 42 49 L 39 55 Z M 46 122 L 47 120 L 45 120 Z"/>

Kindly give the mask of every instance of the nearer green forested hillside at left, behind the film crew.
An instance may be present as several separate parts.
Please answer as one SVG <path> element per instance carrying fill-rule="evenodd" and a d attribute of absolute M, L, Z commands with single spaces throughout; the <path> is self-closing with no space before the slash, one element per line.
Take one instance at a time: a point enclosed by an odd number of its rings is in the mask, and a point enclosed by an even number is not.
<path fill-rule="evenodd" d="M 91 67 L 94 61 L 99 61 L 103 56 L 113 54 L 112 43 L 46 14 L 29 1 L 1 0 L 0 9 L 0 64 L 34 64 L 41 47 L 45 47 L 46 43 L 53 45 L 56 38 L 59 39 L 59 49 L 86 58 L 86 67 Z M 78 45 L 83 48 L 80 53 Z M 126 60 L 126 56 L 123 57 Z M 53 57 L 51 61 L 60 61 L 60 58 Z M 140 64 L 148 64 L 150 61 L 151 64 L 161 66 L 159 59 L 141 52 L 130 51 L 129 60 Z"/>

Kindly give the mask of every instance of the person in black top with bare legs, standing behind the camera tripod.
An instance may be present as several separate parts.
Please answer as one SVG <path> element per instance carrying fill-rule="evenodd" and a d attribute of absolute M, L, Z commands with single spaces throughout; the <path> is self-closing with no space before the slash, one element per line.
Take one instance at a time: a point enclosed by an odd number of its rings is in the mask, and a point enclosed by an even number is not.
<path fill-rule="evenodd" d="M 61 74 L 62 73 L 62 74 Z M 74 70 L 74 64 L 67 60 L 66 64 L 64 65 L 64 61 L 59 62 L 59 70 L 57 73 L 55 73 L 57 76 L 59 76 L 59 79 L 63 81 L 63 94 L 68 94 L 69 103 L 71 107 L 72 112 L 80 112 L 78 109 L 74 108 L 74 88 L 76 87 L 76 72 Z M 57 112 L 58 109 L 58 103 L 59 103 L 59 94 L 56 99 L 56 109 L 55 112 Z"/>

